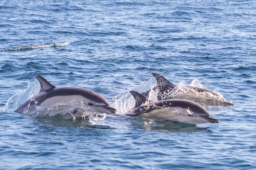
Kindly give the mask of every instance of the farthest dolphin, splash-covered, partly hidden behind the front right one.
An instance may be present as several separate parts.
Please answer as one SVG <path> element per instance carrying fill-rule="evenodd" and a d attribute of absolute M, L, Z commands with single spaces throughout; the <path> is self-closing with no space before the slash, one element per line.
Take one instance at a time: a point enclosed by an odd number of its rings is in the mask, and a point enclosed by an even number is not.
<path fill-rule="evenodd" d="M 223 97 L 217 93 L 214 93 L 210 90 L 200 87 L 192 87 L 192 86 L 185 86 L 186 89 L 183 89 L 183 93 L 174 96 L 172 93 L 177 85 L 169 82 L 165 77 L 160 74 L 152 73 L 152 75 L 157 80 L 157 85 L 152 90 L 157 92 L 157 97 L 160 100 L 163 99 L 188 99 L 188 100 L 195 100 L 195 101 L 212 101 L 216 103 L 226 104 L 226 105 L 234 105 L 231 102 L 225 101 Z M 149 96 L 151 90 L 144 91 L 142 95 Z"/>

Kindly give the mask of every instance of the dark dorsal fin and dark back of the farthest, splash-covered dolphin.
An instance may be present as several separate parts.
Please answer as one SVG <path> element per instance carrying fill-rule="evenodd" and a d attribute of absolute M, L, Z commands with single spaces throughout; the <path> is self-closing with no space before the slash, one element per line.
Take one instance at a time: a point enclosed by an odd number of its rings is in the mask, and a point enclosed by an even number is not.
<path fill-rule="evenodd" d="M 156 87 L 154 87 L 152 90 L 153 91 L 157 91 L 157 98 L 159 100 L 163 100 L 165 99 L 165 96 L 171 92 L 173 90 L 174 87 L 176 87 L 176 85 L 174 85 L 173 83 L 169 82 L 165 77 L 163 77 L 162 75 L 160 74 L 157 74 L 157 73 L 152 73 L 152 75 L 155 77 L 155 79 L 157 80 L 157 85 Z M 207 90 L 205 88 L 200 88 L 200 87 L 192 87 L 192 86 L 187 86 L 197 92 L 209 92 L 209 93 L 212 93 L 212 95 L 214 96 L 220 96 L 218 95 L 217 93 L 214 93 L 210 90 Z M 151 91 L 150 90 L 147 90 L 147 91 L 144 91 L 143 93 L 141 93 L 143 96 L 149 96 L 149 92 Z M 215 100 L 212 100 L 212 101 L 215 101 Z M 223 99 L 223 101 L 216 101 L 216 102 L 220 102 L 220 103 L 223 103 L 223 104 L 226 104 L 226 105 L 234 105 L 233 103 L 231 102 L 228 102 L 228 101 L 225 101 Z"/>

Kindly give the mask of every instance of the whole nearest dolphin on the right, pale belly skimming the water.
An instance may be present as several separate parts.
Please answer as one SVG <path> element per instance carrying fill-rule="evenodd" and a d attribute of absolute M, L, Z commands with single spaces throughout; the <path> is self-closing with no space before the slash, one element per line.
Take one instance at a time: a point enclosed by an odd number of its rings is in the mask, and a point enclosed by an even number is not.
<path fill-rule="evenodd" d="M 125 115 L 187 124 L 219 122 L 218 119 L 210 117 L 204 107 L 192 101 L 171 99 L 152 102 L 136 91 L 130 93 L 135 99 L 135 107 Z"/>

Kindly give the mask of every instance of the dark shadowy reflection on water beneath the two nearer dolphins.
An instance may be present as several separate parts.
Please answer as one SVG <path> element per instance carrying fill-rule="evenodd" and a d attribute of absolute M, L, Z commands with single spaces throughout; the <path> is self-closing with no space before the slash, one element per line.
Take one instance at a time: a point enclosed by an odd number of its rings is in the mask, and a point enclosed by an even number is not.
<path fill-rule="evenodd" d="M 120 115 L 114 118 L 113 123 L 120 123 L 120 118 L 124 115 Z M 38 121 L 45 125 L 53 125 L 55 127 L 69 127 L 69 128 L 92 128 L 92 129 L 115 129 L 112 126 L 106 125 L 106 122 L 101 122 L 93 119 L 93 116 L 90 119 L 77 119 L 77 120 L 64 120 L 61 116 L 56 115 L 53 117 L 34 117 L 31 116 L 31 119 L 34 121 Z M 128 122 L 132 127 L 144 129 L 144 130 L 152 130 L 152 131 L 168 131 L 168 132 L 183 132 L 183 133 L 192 133 L 204 131 L 207 127 L 197 127 L 194 124 L 184 124 L 184 123 L 176 123 L 172 121 L 165 122 L 157 122 L 152 120 L 145 120 L 139 117 L 123 117 L 122 119 L 125 122 Z"/>

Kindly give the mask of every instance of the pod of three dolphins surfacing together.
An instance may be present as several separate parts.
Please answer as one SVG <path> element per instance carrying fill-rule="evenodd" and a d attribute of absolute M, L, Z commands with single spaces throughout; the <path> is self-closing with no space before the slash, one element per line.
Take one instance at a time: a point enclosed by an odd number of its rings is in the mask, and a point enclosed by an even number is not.
<path fill-rule="evenodd" d="M 171 121 L 188 124 L 219 122 L 218 119 L 210 117 L 210 114 L 204 107 L 193 101 L 186 100 L 187 97 L 181 96 L 181 98 L 178 99 L 166 99 L 166 96 L 168 96 L 169 93 L 172 93 L 176 85 L 169 82 L 160 74 L 152 73 L 152 75 L 157 80 L 156 87 L 144 91 L 141 94 L 136 91 L 130 91 L 135 99 L 135 106 L 130 109 L 130 111 L 124 113 L 124 115 L 133 117 L 138 116 L 163 122 Z M 90 115 L 96 113 L 114 114 L 117 112 L 115 108 L 109 106 L 106 99 L 94 91 L 85 88 L 55 87 L 41 76 L 37 76 L 36 79 L 38 79 L 41 86 L 39 93 L 18 107 L 14 112 L 45 113 L 41 115 L 59 114 L 62 115 L 63 119 L 76 119 L 78 117 L 88 119 Z M 206 98 L 202 94 L 198 95 L 198 93 L 203 92 L 210 93 L 213 96 L 220 96 L 205 88 L 186 87 L 197 93 L 189 94 L 190 98 L 211 100 L 209 97 Z M 157 92 L 159 101 L 153 102 L 148 99 L 149 93 L 152 90 Z M 225 101 L 221 96 L 217 102 L 233 105 L 233 103 Z"/>

